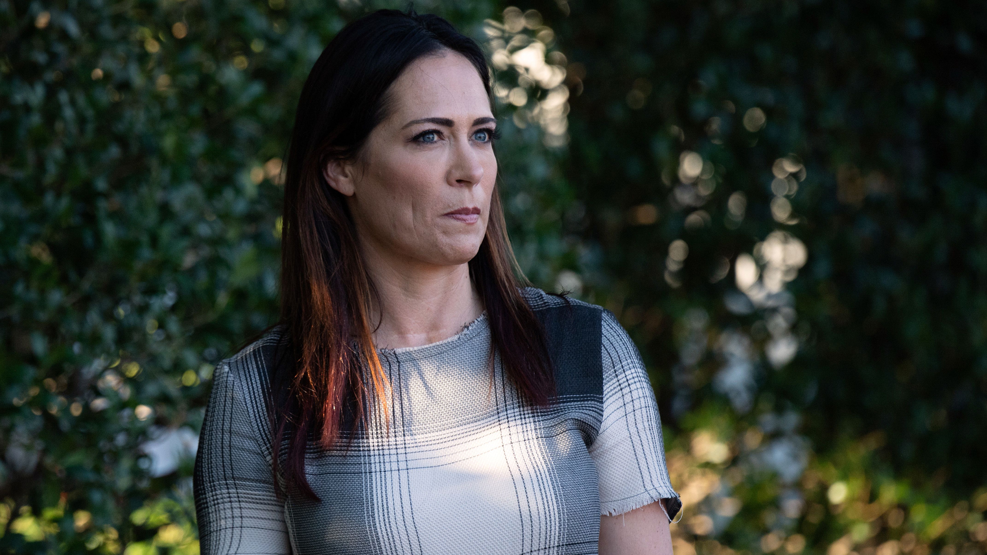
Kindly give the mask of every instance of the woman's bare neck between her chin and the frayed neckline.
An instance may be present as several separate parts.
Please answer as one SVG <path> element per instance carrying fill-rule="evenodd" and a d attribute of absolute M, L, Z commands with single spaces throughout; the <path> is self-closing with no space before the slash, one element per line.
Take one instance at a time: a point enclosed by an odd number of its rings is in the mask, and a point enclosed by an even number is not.
<path fill-rule="evenodd" d="M 468 264 L 434 266 L 386 256 L 363 245 L 363 262 L 379 295 L 371 310 L 378 349 L 419 347 L 448 339 L 476 320 L 483 302 Z"/>

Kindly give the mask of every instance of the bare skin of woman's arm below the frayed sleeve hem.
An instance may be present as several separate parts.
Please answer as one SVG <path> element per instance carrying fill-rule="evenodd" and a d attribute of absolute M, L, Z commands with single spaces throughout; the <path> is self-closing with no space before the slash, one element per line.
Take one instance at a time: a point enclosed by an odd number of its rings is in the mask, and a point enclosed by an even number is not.
<path fill-rule="evenodd" d="M 600 516 L 600 555 L 672 555 L 668 516 L 660 504 Z"/>

